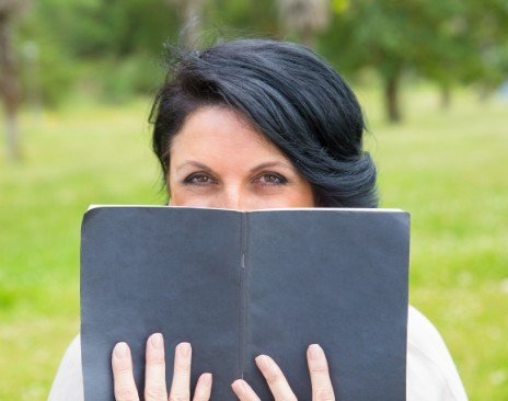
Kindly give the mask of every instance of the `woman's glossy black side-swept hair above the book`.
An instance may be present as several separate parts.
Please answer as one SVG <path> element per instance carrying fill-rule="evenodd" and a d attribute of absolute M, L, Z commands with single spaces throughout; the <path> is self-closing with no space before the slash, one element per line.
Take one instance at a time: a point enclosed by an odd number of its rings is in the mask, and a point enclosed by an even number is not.
<path fill-rule="evenodd" d="M 269 138 L 310 182 L 318 206 L 378 206 L 360 105 L 342 77 L 307 47 L 238 39 L 174 56 L 150 116 L 164 177 L 173 137 L 203 106 L 233 110 Z"/>

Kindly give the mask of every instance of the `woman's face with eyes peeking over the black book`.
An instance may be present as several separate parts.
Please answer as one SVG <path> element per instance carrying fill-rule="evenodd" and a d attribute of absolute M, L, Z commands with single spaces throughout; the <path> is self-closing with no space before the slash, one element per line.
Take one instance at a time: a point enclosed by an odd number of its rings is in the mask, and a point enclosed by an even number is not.
<path fill-rule="evenodd" d="M 170 205 L 238 210 L 313 207 L 289 159 L 233 111 L 190 114 L 170 149 Z"/>

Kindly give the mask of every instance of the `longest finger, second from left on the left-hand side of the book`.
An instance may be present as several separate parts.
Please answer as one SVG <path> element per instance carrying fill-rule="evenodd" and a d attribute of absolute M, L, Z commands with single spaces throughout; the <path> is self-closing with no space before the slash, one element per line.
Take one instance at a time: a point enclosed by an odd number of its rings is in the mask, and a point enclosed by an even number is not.
<path fill-rule="evenodd" d="M 164 340 L 161 333 L 150 335 L 147 341 L 147 373 L 145 377 L 145 400 L 168 401 L 165 386 Z"/>

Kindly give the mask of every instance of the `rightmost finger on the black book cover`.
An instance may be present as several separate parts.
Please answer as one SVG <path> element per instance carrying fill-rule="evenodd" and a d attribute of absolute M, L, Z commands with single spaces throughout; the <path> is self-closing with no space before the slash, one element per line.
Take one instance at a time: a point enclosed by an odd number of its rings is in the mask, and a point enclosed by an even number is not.
<path fill-rule="evenodd" d="M 323 348 L 318 344 L 312 344 L 307 351 L 309 371 L 312 383 L 313 401 L 333 401 L 335 394 L 330 379 L 328 364 Z"/>

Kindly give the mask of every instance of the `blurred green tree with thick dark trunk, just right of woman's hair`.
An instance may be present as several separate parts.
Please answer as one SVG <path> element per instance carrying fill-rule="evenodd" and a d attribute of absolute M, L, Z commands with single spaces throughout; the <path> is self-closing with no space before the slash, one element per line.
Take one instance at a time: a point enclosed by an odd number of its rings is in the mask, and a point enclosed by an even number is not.
<path fill-rule="evenodd" d="M 390 122 L 402 118 L 399 93 L 404 71 L 436 62 L 440 36 L 434 3 L 439 1 L 357 0 L 336 15 L 327 44 L 338 50 L 337 64 L 349 72 L 366 67 L 378 72 Z"/>

